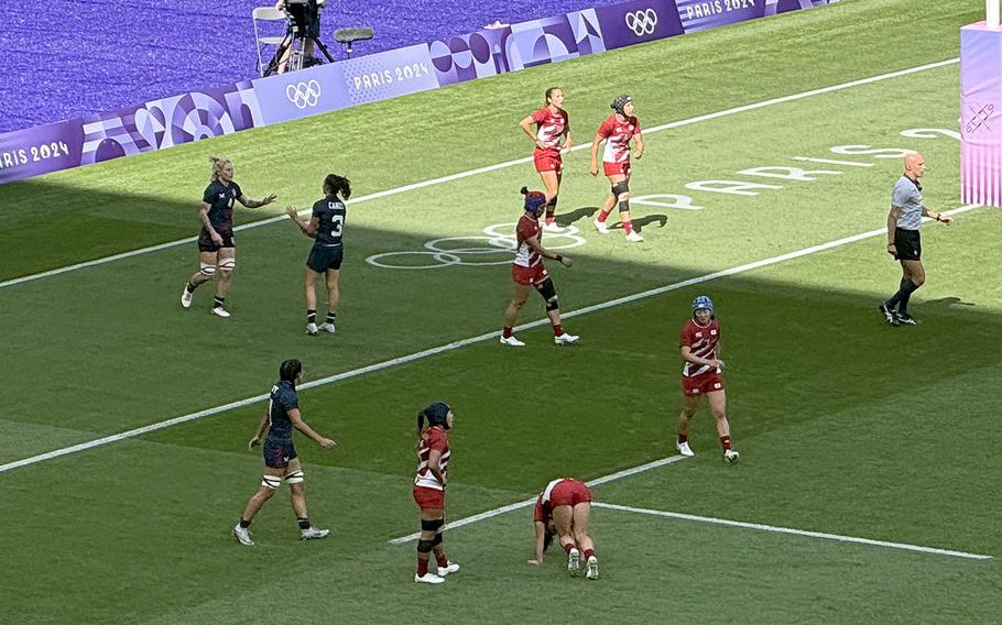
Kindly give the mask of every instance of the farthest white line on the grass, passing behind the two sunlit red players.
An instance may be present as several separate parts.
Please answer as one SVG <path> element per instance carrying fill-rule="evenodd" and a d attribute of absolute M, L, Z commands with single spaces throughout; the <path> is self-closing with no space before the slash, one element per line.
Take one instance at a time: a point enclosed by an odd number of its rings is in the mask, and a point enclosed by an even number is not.
<path fill-rule="evenodd" d="M 796 100 L 802 100 L 802 99 L 804 99 L 804 98 L 810 98 L 810 97 L 813 97 L 813 96 L 820 96 L 820 95 L 823 95 L 823 94 L 829 94 L 829 92 L 831 92 L 831 91 L 840 91 L 840 90 L 842 90 L 842 89 L 849 89 L 849 88 L 851 88 L 851 87 L 859 87 L 860 85 L 868 85 L 868 84 L 870 84 L 870 83 L 879 83 L 879 81 L 881 81 L 881 80 L 887 80 L 887 79 L 890 79 L 890 78 L 897 78 L 898 76 L 906 76 L 906 75 L 908 75 L 908 74 L 915 74 L 915 73 L 917 73 L 917 72 L 925 72 L 926 69 L 935 69 L 935 68 L 937 68 L 937 67 L 944 67 L 944 66 L 946 66 L 946 65 L 952 65 L 952 64 L 956 64 L 956 63 L 959 63 L 959 62 L 960 62 L 960 58 L 959 58 L 959 57 L 955 57 L 955 58 L 948 58 L 948 59 L 946 59 L 946 61 L 939 61 L 939 62 L 937 62 L 937 63 L 929 63 L 929 64 L 926 64 L 926 65 L 918 65 L 918 66 L 916 66 L 916 67 L 910 67 L 910 68 L 907 68 L 907 69 L 900 69 L 900 70 L 897 70 L 897 72 L 891 72 L 891 73 L 889 73 L 889 74 L 881 74 L 881 75 L 879 75 L 879 76 L 871 76 L 871 77 L 869 77 L 869 78 L 860 78 L 859 80 L 852 80 L 852 81 L 849 81 L 849 83 L 842 83 L 842 84 L 840 84 L 840 85 L 831 85 L 831 86 L 829 86 L 829 87 L 821 87 L 821 88 L 819 88 L 819 89 L 812 89 L 810 91 L 802 91 L 802 92 L 799 92 L 799 94 L 793 94 L 793 95 L 791 95 L 791 96 L 783 96 L 783 97 L 780 97 L 780 98 L 773 98 L 773 99 L 771 99 L 771 100 L 763 100 L 763 101 L 761 101 L 761 102 L 754 102 L 754 103 L 752 103 L 752 105 L 744 105 L 744 106 L 741 106 L 741 107 L 734 107 L 734 108 L 730 108 L 730 109 L 725 109 L 725 110 L 722 110 L 722 111 L 717 111 L 717 112 L 712 112 L 712 113 L 706 113 L 706 114 L 697 116 L 697 117 L 689 118 L 689 119 L 684 119 L 684 120 L 679 120 L 679 121 L 673 121 L 673 122 L 669 122 L 669 123 L 665 123 L 665 124 L 661 124 L 661 125 L 651 127 L 651 128 L 649 128 L 649 129 L 645 129 L 643 132 L 644 132 L 644 134 L 652 134 L 652 133 L 655 133 L 655 132 L 660 132 L 660 131 L 662 131 L 662 130 L 671 130 L 671 129 L 674 129 L 674 128 L 680 128 L 680 127 L 684 127 L 684 125 L 689 125 L 689 124 L 694 124 L 694 123 L 699 123 L 699 122 L 703 122 L 703 121 L 709 121 L 709 120 L 714 120 L 714 119 L 718 119 L 718 118 L 722 118 L 722 117 L 728 117 L 728 116 L 741 113 L 741 112 L 744 112 L 744 111 L 751 111 L 751 110 L 755 110 L 755 109 L 761 109 L 761 108 L 765 108 L 765 107 L 771 107 L 771 106 L 773 106 L 773 105 L 782 105 L 782 103 L 784 103 L 784 102 L 792 102 L 792 101 L 796 101 Z M 575 145 L 574 147 L 571 147 L 570 151 L 571 151 L 571 152 L 577 152 L 577 151 L 579 151 L 579 150 L 588 150 L 588 149 L 590 149 L 590 147 L 591 147 L 591 144 L 590 144 L 590 143 L 581 143 L 581 144 L 578 144 L 578 145 Z M 507 162 L 504 162 L 504 163 L 498 163 L 498 164 L 494 164 L 494 165 L 488 165 L 488 166 L 486 166 L 486 167 L 478 167 L 478 168 L 476 168 L 476 169 L 469 169 L 469 171 L 467 171 L 467 172 L 460 172 L 460 173 L 458 173 L 458 174 L 451 174 L 451 175 L 448 175 L 448 176 L 442 176 L 442 177 L 439 177 L 439 178 L 432 178 L 432 179 L 429 179 L 429 180 L 423 180 L 423 182 L 421 182 L 421 183 L 414 183 L 414 184 L 404 185 L 404 186 L 396 187 L 396 188 L 392 188 L 392 189 L 386 189 L 386 190 L 378 191 L 378 193 L 370 194 L 370 195 L 367 195 L 367 196 L 361 196 L 361 197 L 358 197 L 358 198 L 356 198 L 356 199 L 350 200 L 350 201 L 347 202 L 347 204 L 351 204 L 351 205 L 360 204 L 360 202 L 368 201 L 368 200 L 371 200 L 371 199 L 379 199 L 379 198 L 382 198 L 382 197 L 388 197 L 388 196 L 392 196 L 392 195 L 397 195 L 397 194 L 402 194 L 402 193 L 406 193 L 406 191 L 411 191 L 411 190 L 415 190 L 415 189 L 421 189 L 421 188 L 424 188 L 424 187 L 431 187 L 431 186 L 439 185 L 439 184 L 443 184 L 443 183 L 450 183 L 450 182 L 453 182 L 453 180 L 458 180 L 458 179 L 461 179 L 461 178 L 467 178 L 467 177 L 470 177 L 470 176 L 476 176 L 476 175 L 478 175 L 478 174 L 486 174 L 486 173 L 488 173 L 488 172 L 494 172 L 494 171 L 497 171 L 497 169 L 503 169 L 503 168 L 505 168 L 505 167 L 511 167 L 511 166 L 513 166 L 513 165 L 522 165 L 522 164 L 524 164 L 524 163 L 531 163 L 531 162 L 532 162 L 532 157 L 531 157 L 531 156 L 526 156 L 526 157 L 524 157 L 524 158 L 516 158 L 516 160 L 514 160 L 514 161 L 507 161 Z M 287 217 L 285 217 L 284 215 L 276 216 L 276 217 L 270 217 L 270 218 L 268 218 L 268 219 L 262 219 L 262 220 L 260 220 L 260 221 L 254 221 L 254 222 L 252 222 L 252 223 L 244 223 L 243 226 L 238 226 L 238 227 L 235 228 L 233 230 L 237 230 L 237 231 L 248 230 L 248 229 L 250 229 L 250 228 L 258 228 L 259 226 L 268 226 L 268 224 L 270 224 L 270 223 L 277 223 L 279 221 L 284 221 L 285 219 L 287 219 Z M 92 266 L 96 266 L 96 265 L 102 265 L 102 264 L 110 263 L 110 262 L 113 262 L 113 261 L 120 261 L 120 260 L 123 260 L 123 259 L 129 259 L 129 257 L 132 257 L 132 256 L 138 256 L 138 255 L 140 255 L 140 254 L 146 254 L 146 253 L 150 253 L 150 252 L 157 252 L 157 251 L 160 251 L 160 250 L 166 250 L 166 249 L 170 249 L 170 248 L 176 248 L 176 246 L 178 246 L 178 245 L 184 245 L 184 244 L 186 244 L 186 243 L 194 243 L 194 242 L 197 241 L 197 240 L 198 240 L 197 237 L 188 237 L 187 239 L 179 239 L 179 240 L 177 240 L 177 241 L 170 241 L 170 242 L 166 242 L 166 243 L 160 243 L 160 244 L 157 244 L 157 245 L 152 245 L 152 246 L 150 246 L 150 248 L 142 248 L 142 249 L 139 249 L 139 250 L 132 250 L 132 251 L 129 251 L 129 252 L 122 252 L 122 253 L 120 253 L 120 254 L 115 254 L 115 255 L 111 255 L 111 256 L 105 256 L 105 257 L 102 257 L 102 259 L 95 259 L 95 260 L 92 260 L 92 261 L 86 261 L 86 262 L 77 263 L 77 264 L 74 264 L 74 265 L 66 265 L 66 266 L 64 266 L 64 267 L 57 267 L 57 268 L 54 268 L 54 270 L 48 270 L 48 271 L 41 272 L 41 273 L 36 273 L 36 274 L 25 275 L 25 276 L 21 276 L 21 277 L 18 277 L 18 278 L 13 278 L 13 279 L 8 279 L 8 281 L 0 282 L 0 288 L 7 288 L 7 287 L 9 287 L 9 286 L 14 286 L 14 285 L 17 285 L 17 284 L 22 284 L 22 283 L 25 283 L 25 282 L 33 282 L 33 281 L 36 281 L 36 279 L 41 279 L 41 278 L 43 278 L 43 277 L 51 277 L 51 276 L 54 276 L 54 275 L 59 275 L 59 274 L 64 274 L 64 273 L 72 272 L 72 271 L 76 271 L 76 270 L 83 270 L 83 268 L 86 268 L 86 267 L 92 267 Z"/>

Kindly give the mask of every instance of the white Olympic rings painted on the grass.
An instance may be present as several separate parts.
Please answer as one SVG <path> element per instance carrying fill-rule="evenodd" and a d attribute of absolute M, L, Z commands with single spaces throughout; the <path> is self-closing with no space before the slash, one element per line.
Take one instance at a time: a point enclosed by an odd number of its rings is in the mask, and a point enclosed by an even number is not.
<path fill-rule="evenodd" d="M 509 265 L 515 254 L 515 223 L 495 223 L 483 229 L 483 235 L 443 237 L 426 241 L 424 250 L 413 252 L 383 252 L 366 259 L 370 265 L 384 270 L 434 270 L 451 266 L 489 266 Z M 586 243 L 575 226 L 564 228 L 563 232 L 546 232 L 547 250 L 567 250 Z M 566 239 L 554 244 L 555 239 Z M 471 256 L 467 259 L 467 256 Z M 406 259 L 417 259 L 412 264 Z M 397 262 L 394 262 L 396 259 Z"/>

